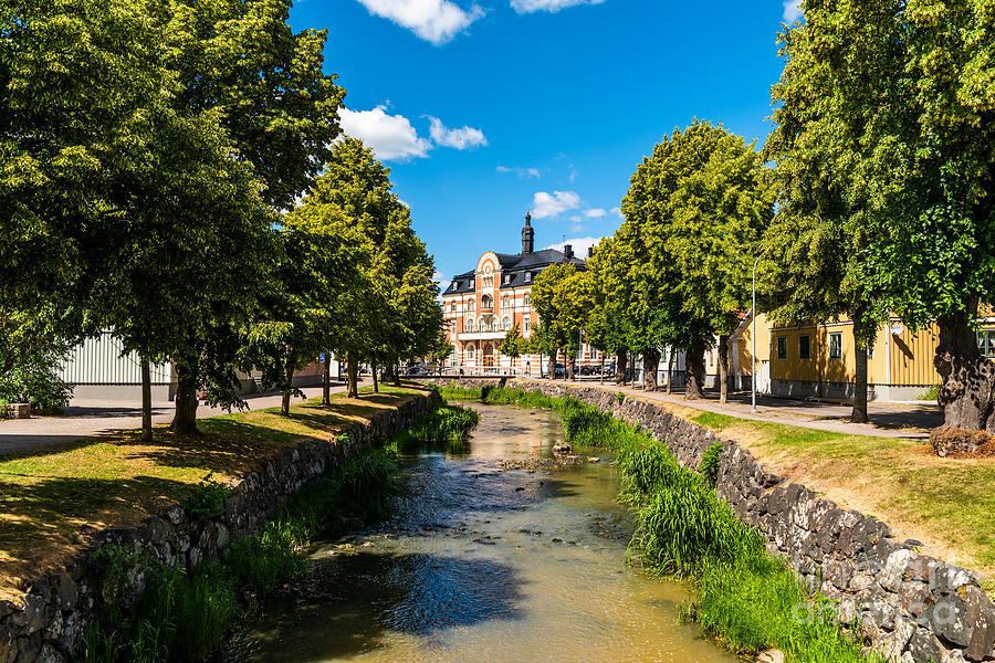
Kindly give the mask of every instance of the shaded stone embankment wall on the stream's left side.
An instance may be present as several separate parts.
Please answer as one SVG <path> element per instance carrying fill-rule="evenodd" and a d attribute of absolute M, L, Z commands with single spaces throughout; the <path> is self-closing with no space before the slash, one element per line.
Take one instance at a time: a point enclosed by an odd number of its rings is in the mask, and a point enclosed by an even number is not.
<path fill-rule="evenodd" d="M 232 540 L 255 532 L 302 486 L 338 467 L 374 440 L 408 428 L 436 400 L 434 393 L 420 396 L 377 414 L 368 424 L 354 424 L 344 431 L 348 442 L 302 442 L 261 463 L 232 487 L 224 512 L 213 518 L 201 520 L 172 506 L 146 519 L 140 528 L 100 533 L 92 549 L 115 544 L 125 551 L 188 569 L 203 559 L 217 559 Z M 86 628 L 102 601 L 87 557 L 88 552 L 32 582 L 19 603 L 0 601 L 0 663 L 62 663 L 81 654 Z"/>

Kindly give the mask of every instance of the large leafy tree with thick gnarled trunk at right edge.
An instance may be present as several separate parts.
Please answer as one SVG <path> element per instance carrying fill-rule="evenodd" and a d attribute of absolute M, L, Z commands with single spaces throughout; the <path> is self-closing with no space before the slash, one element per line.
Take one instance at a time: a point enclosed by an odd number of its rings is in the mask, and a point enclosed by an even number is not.
<path fill-rule="evenodd" d="M 935 320 L 945 425 L 995 431 L 995 366 L 974 335 L 995 286 L 991 4 L 817 1 L 805 13 L 782 35 L 777 151 L 798 161 L 803 192 L 815 165 L 831 173 L 820 186 L 845 206 L 842 232 L 862 235 L 849 240 L 859 270 L 846 290 L 860 295 L 850 313 Z"/>

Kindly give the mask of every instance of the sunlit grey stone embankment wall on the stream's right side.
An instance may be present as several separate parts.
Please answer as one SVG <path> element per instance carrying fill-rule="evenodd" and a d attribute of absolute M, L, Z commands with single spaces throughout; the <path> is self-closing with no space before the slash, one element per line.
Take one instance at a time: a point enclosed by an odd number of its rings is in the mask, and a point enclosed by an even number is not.
<path fill-rule="evenodd" d="M 618 402 L 616 393 L 597 388 L 527 381 L 510 386 L 570 396 L 641 425 L 685 467 L 696 469 L 705 450 L 720 441 L 719 495 L 764 534 L 771 552 L 784 557 L 810 591 L 838 600 L 840 620 L 859 623 L 874 650 L 903 663 L 995 660 L 995 606 L 977 573 L 920 555 L 919 541 L 898 541 L 884 523 L 772 474 L 750 451 L 663 404 L 630 397 Z M 823 618 L 813 611 L 813 606 L 799 606 L 797 618 Z"/>

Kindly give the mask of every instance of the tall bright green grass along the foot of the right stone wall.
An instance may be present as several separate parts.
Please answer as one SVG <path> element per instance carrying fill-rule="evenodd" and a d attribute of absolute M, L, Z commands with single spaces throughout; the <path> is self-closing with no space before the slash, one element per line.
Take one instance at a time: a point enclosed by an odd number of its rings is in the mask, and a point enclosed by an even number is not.
<path fill-rule="evenodd" d="M 867 661 L 837 625 L 832 604 L 808 597 L 784 562 L 766 554 L 761 535 L 715 496 L 708 466 L 702 474 L 681 467 L 663 445 L 574 399 L 491 389 L 486 400 L 552 408 L 568 442 L 616 453 L 620 498 L 637 524 L 633 559 L 651 573 L 691 580 L 698 598 L 685 614 L 723 646 L 741 654 L 778 649 L 797 663 Z M 799 613 L 821 617 L 799 620 Z"/>

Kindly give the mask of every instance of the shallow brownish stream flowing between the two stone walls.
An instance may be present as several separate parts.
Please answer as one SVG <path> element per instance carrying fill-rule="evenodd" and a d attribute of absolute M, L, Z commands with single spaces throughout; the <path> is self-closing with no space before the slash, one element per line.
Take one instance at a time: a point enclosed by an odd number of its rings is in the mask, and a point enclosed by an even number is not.
<path fill-rule="evenodd" d="M 394 517 L 315 544 L 307 577 L 227 661 L 736 660 L 677 625 L 683 586 L 626 564 L 631 525 L 607 459 L 536 466 L 562 436 L 554 413 L 472 407 L 469 442 L 404 456 Z"/>

